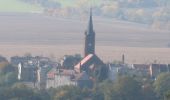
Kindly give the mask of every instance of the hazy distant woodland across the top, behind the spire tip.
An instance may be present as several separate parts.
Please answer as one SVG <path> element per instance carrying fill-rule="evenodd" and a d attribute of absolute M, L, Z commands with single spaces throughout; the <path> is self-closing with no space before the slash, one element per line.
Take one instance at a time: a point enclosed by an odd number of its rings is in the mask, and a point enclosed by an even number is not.
<path fill-rule="evenodd" d="M 62 17 L 84 17 L 89 5 L 96 16 L 116 18 L 153 28 L 170 29 L 170 0 L 20 0 L 37 4 L 44 13 Z"/>

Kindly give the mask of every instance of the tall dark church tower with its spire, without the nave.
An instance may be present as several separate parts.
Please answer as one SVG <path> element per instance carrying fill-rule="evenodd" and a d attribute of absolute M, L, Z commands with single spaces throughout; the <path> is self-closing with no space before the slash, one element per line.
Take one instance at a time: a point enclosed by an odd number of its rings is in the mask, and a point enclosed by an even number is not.
<path fill-rule="evenodd" d="M 87 30 L 85 32 L 84 56 L 95 54 L 95 32 L 93 30 L 92 9 L 90 9 L 90 18 Z"/>

